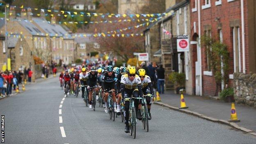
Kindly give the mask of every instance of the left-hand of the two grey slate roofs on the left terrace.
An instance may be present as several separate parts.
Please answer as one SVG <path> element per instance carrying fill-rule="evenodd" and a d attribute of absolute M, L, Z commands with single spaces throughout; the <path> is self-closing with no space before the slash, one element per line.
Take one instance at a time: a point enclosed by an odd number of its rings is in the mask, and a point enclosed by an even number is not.
<path fill-rule="evenodd" d="M 37 26 L 30 21 L 23 18 L 16 18 L 14 21 L 18 21 L 30 34 L 34 36 L 46 36 L 44 32 L 41 32 Z"/>

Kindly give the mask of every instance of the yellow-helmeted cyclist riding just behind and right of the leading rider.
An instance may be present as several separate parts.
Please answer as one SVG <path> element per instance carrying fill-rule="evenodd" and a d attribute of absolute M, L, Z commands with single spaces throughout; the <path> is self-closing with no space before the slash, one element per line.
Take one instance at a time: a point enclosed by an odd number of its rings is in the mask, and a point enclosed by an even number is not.
<path fill-rule="evenodd" d="M 145 69 L 139 69 L 137 71 L 140 80 L 142 81 L 142 92 L 145 95 L 147 94 L 152 94 L 153 95 L 153 100 L 154 100 L 154 90 L 152 86 L 151 79 L 148 75 L 146 75 Z M 151 120 L 151 113 L 150 113 L 150 108 L 151 108 L 151 98 L 149 96 L 146 96 L 146 103 L 148 105 L 148 112 L 149 112 L 149 120 Z M 139 111 L 140 111 L 141 105 L 139 105 Z"/>

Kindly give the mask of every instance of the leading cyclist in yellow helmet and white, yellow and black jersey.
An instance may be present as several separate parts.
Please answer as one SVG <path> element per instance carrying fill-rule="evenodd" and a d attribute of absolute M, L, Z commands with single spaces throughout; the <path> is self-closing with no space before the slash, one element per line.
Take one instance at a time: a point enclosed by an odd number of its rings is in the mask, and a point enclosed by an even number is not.
<path fill-rule="evenodd" d="M 135 66 L 131 66 L 128 68 L 127 71 L 128 74 L 122 75 L 121 77 L 121 94 L 124 98 L 129 98 L 132 95 L 134 97 L 142 97 L 142 85 L 141 80 L 138 75 L 136 75 L 136 68 Z M 135 110 L 136 110 L 136 117 L 137 119 L 141 120 L 141 114 L 139 112 L 139 100 L 134 101 L 135 104 Z M 128 125 L 128 119 L 129 119 L 129 108 L 130 108 L 130 101 L 125 101 L 124 106 L 124 117 L 125 117 L 125 132 L 129 133 L 129 125 Z"/>

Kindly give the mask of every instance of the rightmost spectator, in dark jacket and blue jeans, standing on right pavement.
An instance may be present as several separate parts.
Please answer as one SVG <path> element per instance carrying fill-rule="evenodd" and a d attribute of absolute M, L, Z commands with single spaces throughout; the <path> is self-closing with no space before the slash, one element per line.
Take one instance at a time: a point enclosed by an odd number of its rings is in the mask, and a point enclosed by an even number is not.
<path fill-rule="evenodd" d="M 165 69 L 162 67 L 162 64 L 160 64 L 159 68 L 156 69 L 156 75 L 157 75 L 157 85 L 158 85 L 158 92 L 159 94 L 165 93 Z"/>

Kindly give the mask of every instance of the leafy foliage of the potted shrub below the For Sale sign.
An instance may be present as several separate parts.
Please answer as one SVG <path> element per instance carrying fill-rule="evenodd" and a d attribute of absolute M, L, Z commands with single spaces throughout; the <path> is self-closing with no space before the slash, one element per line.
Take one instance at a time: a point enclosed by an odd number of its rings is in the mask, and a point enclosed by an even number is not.
<path fill-rule="evenodd" d="M 184 87 L 186 82 L 185 73 L 172 72 L 169 75 L 169 80 L 174 83 L 177 87 Z"/>

